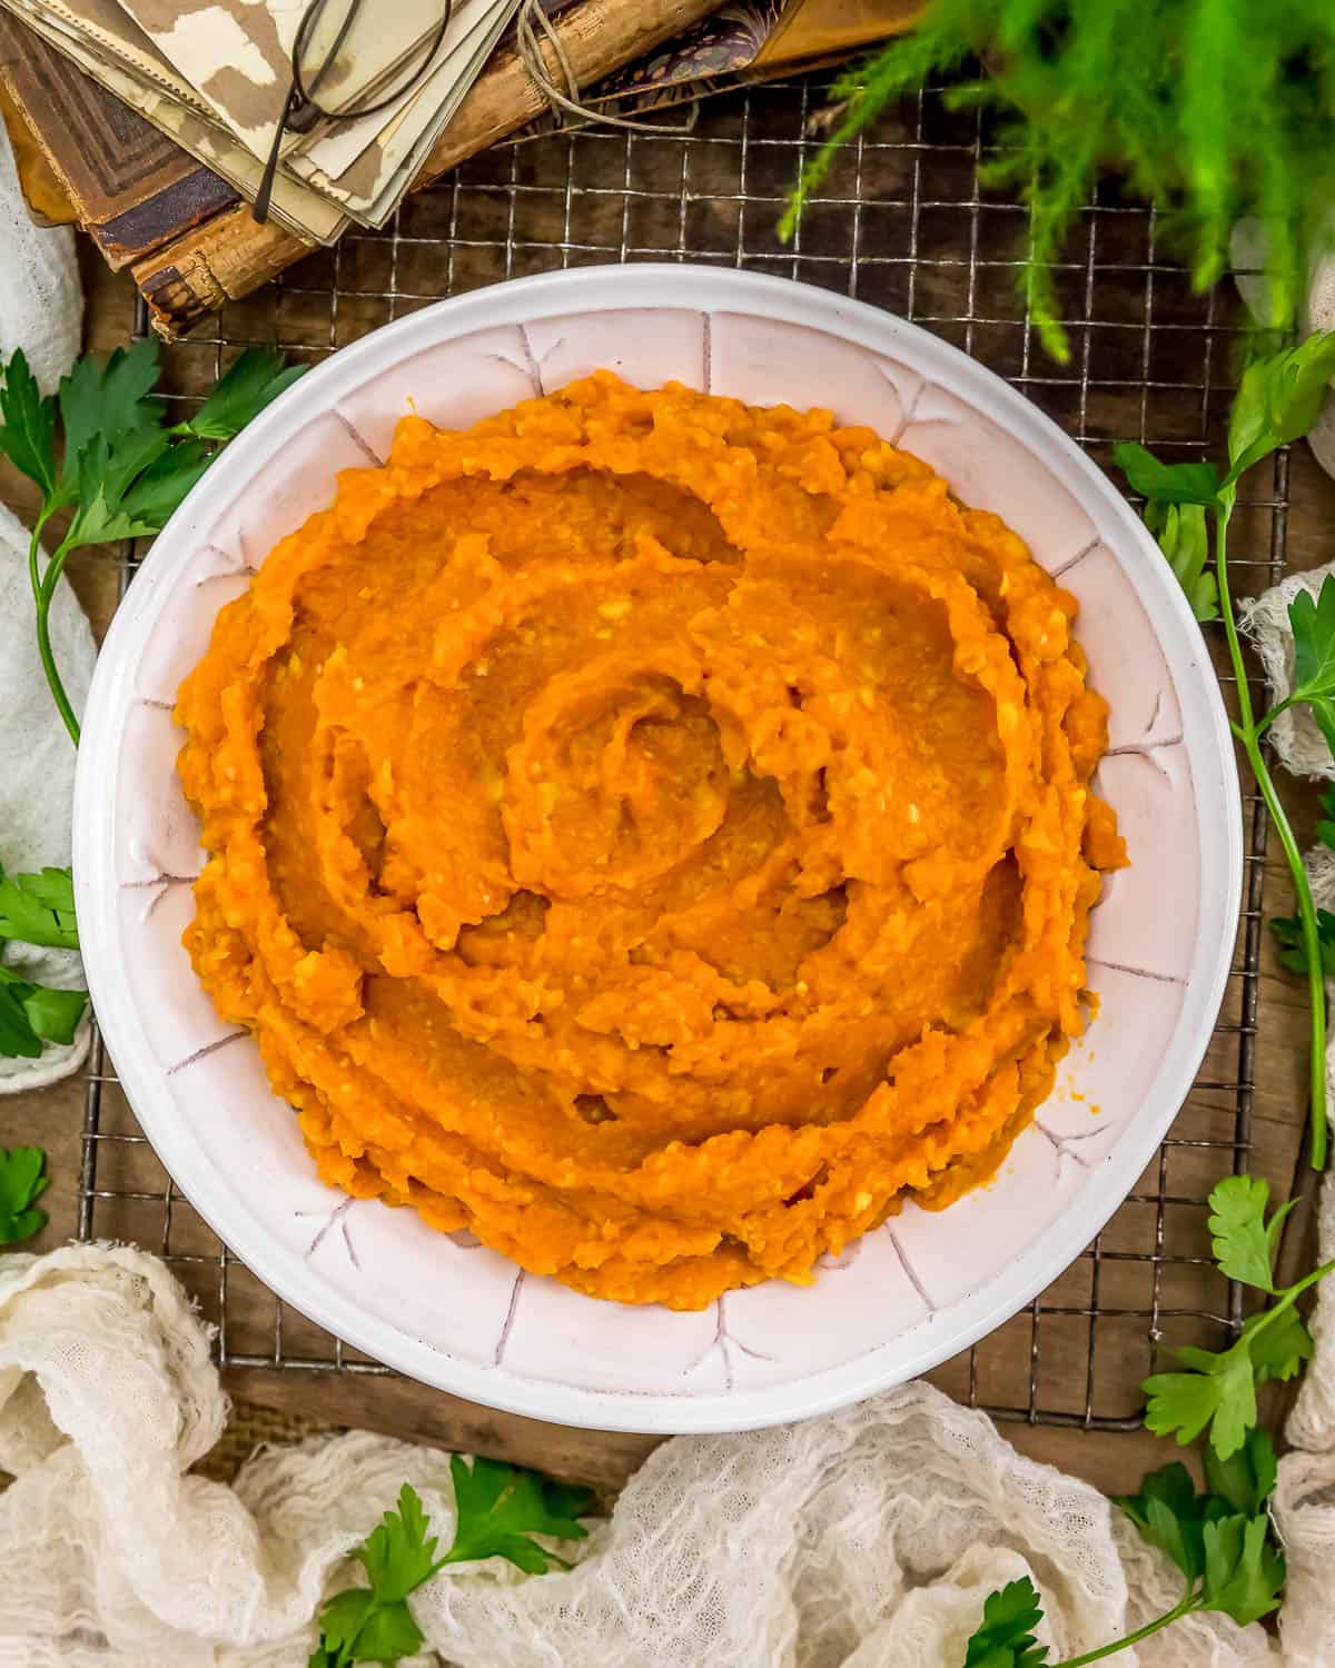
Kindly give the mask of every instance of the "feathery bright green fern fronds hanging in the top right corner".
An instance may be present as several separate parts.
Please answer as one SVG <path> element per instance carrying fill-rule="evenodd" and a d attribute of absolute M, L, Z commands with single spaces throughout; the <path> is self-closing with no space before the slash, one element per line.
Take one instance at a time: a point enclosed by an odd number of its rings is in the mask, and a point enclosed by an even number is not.
<path fill-rule="evenodd" d="M 1270 329 L 1302 307 L 1310 252 L 1335 224 L 1335 0 L 931 0 L 911 35 L 831 88 L 848 110 L 806 165 L 791 237 L 841 145 L 896 98 L 956 77 L 953 107 L 1000 115 L 985 183 L 1030 208 L 1020 287 L 1066 357 L 1053 265 L 1101 172 L 1161 214 L 1163 239 L 1207 289 L 1243 215 L 1262 222 Z"/>

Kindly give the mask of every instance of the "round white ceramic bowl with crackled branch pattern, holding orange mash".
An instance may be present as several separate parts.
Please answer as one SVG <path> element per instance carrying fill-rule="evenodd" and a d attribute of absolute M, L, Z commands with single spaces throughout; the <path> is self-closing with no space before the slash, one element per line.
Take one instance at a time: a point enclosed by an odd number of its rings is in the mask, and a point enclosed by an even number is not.
<path fill-rule="evenodd" d="M 1003 515 L 1080 599 L 1111 702 L 1100 791 L 1133 866 L 1090 932 L 1100 997 L 998 1179 L 909 1204 L 798 1288 L 699 1314 L 521 1274 L 314 1173 L 254 1042 L 214 1012 L 180 934 L 200 862 L 175 777 L 175 691 L 274 542 L 379 459 L 412 400 L 464 427 L 609 365 L 756 404 L 833 407 Z M 83 959 L 102 1031 L 177 1186 L 284 1299 L 414 1378 L 534 1418 L 711 1431 L 801 1418 L 923 1373 L 998 1326 L 1090 1243 L 1200 1064 L 1242 884 L 1233 749 L 1200 631 L 1103 474 L 998 377 L 873 307 L 783 279 L 629 265 L 522 279 L 375 330 L 279 399 L 160 534 L 97 666 L 75 796 Z M 330 1231 L 334 1229 L 334 1231 Z"/>

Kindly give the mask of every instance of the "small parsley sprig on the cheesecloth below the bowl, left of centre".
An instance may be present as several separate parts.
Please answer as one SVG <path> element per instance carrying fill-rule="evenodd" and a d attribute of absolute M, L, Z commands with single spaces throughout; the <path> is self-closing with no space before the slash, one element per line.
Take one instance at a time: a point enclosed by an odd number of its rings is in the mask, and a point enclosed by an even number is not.
<path fill-rule="evenodd" d="M 592 1508 L 587 1488 L 552 1483 L 536 1471 L 451 1454 L 454 1540 L 436 1556 L 436 1536 L 411 1483 L 399 1490 L 399 1510 L 354 1548 L 369 1586 L 350 1586 L 320 1610 L 320 1643 L 309 1668 L 347 1668 L 349 1663 L 397 1663 L 422 1650 L 426 1640 L 407 1600 L 446 1565 L 507 1558 L 527 1575 L 569 1565 L 534 1540 L 577 1541 L 589 1531 L 579 1523 Z"/>

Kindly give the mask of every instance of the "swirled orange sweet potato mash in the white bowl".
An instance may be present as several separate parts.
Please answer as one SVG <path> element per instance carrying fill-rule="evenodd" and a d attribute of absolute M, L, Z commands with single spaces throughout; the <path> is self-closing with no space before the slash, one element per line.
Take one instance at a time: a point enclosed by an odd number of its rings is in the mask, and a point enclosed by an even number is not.
<path fill-rule="evenodd" d="M 624 1303 L 808 1281 L 1081 1029 L 1075 610 L 828 412 L 406 417 L 182 686 L 195 971 L 327 1183 Z"/>

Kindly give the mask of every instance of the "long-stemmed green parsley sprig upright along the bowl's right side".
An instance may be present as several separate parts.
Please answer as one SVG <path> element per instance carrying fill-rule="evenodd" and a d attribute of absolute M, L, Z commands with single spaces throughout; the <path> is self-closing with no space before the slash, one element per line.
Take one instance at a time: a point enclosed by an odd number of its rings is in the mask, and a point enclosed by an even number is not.
<path fill-rule="evenodd" d="M 1288 816 L 1275 791 L 1262 737 L 1290 707 L 1307 707 L 1335 754 L 1335 579 L 1328 577 L 1313 600 L 1298 592 L 1288 609 L 1293 627 L 1293 689 L 1267 712 L 1252 707 L 1247 666 L 1228 574 L 1228 522 L 1238 480 L 1278 447 L 1307 434 L 1317 419 L 1327 384 L 1335 375 L 1335 332 L 1310 335 L 1302 345 L 1253 360 L 1243 374 L 1228 424 L 1228 472 L 1213 464 L 1163 464 L 1143 445 L 1123 444 L 1115 457 L 1131 487 L 1146 499 L 1145 519 L 1186 592 L 1198 620 L 1223 619 L 1228 659 L 1237 677 L 1238 717 L 1233 734 L 1247 754 L 1280 837 L 1298 914 L 1277 924 L 1280 947 L 1290 966 L 1308 976 L 1312 1011 L 1312 1168 L 1325 1169 L 1325 969 L 1335 959 L 1335 921 L 1322 921 Z M 1215 572 L 1205 567 L 1207 519 L 1215 532 Z M 1335 807 L 1328 806 L 1328 812 Z M 1335 837 L 1335 826 L 1325 824 Z M 1325 947 L 1323 947 L 1325 946 Z"/>

